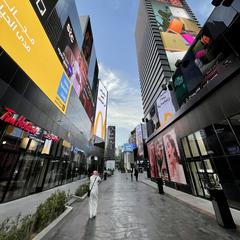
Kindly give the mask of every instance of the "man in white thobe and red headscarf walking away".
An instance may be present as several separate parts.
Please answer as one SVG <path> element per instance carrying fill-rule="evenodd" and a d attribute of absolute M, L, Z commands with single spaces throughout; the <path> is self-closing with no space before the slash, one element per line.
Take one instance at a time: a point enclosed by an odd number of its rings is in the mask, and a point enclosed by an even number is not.
<path fill-rule="evenodd" d="M 97 171 L 93 171 L 93 175 L 90 177 L 90 185 L 89 190 L 90 198 L 89 198 L 89 213 L 90 218 L 95 218 L 97 215 L 97 205 L 98 205 L 98 184 L 101 181 L 101 178 L 98 176 Z"/>

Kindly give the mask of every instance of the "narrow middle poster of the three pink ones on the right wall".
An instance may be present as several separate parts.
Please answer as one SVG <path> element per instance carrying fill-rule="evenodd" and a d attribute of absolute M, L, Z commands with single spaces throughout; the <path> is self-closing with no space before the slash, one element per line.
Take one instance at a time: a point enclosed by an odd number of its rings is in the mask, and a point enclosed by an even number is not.
<path fill-rule="evenodd" d="M 166 158 L 164 153 L 163 140 L 160 136 L 156 137 L 156 139 L 154 140 L 154 147 L 155 147 L 156 161 L 159 169 L 159 175 L 163 179 L 169 180 L 168 170 L 166 165 Z"/>

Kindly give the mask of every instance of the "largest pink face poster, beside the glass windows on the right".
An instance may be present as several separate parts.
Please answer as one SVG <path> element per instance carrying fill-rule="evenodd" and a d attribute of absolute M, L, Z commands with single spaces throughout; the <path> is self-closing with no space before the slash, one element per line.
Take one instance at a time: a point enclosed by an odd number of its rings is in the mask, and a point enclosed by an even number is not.
<path fill-rule="evenodd" d="M 163 136 L 163 143 L 171 181 L 186 184 L 186 178 L 174 129 Z"/>

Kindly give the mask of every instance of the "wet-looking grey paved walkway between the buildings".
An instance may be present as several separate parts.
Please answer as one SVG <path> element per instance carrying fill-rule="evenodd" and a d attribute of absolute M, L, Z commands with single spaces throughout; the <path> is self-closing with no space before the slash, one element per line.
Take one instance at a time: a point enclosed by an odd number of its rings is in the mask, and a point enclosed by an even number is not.
<path fill-rule="evenodd" d="M 44 240 L 226 240 L 233 230 L 141 182 L 116 174 L 100 185 L 98 215 L 88 219 L 88 201 L 73 211 Z"/>

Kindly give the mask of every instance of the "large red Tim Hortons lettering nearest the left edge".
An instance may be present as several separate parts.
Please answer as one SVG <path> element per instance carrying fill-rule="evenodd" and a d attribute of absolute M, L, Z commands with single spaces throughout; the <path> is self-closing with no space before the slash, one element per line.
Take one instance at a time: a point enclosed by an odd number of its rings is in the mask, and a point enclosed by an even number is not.
<path fill-rule="evenodd" d="M 16 113 L 11 108 L 5 107 L 7 112 L 5 112 L 0 119 L 6 123 L 9 123 L 15 127 L 21 128 L 22 130 L 29 132 L 31 134 L 36 134 L 37 129 L 33 126 L 33 124 L 29 121 L 26 121 L 26 117 L 20 116 L 20 117 L 14 117 L 14 114 Z"/>

